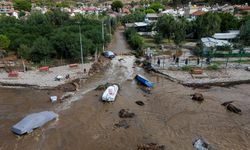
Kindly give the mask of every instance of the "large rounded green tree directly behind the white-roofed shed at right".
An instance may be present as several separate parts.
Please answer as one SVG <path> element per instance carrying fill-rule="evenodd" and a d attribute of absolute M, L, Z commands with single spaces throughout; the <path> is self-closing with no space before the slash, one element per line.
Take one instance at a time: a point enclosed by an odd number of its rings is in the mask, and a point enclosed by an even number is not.
<path fill-rule="evenodd" d="M 220 31 L 221 19 L 217 13 L 206 13 L 196 19 L 196 36 L 212 36 Z"/>

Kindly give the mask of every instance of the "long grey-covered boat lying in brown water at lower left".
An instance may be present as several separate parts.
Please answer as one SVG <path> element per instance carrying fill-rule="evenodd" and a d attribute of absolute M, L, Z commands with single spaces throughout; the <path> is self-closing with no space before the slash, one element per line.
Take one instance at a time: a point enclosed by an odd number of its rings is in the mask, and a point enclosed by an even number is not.
<path fill-rule="evenodd" d="M 43 126 L 45 123 L 58 117 L 58 114 L 53 111 L 43 111 L 39 113 L 32 113 L 24 117 L 20 122 L 12 126 L 11 131 L 22 135 L 30 133 L 33 129 Z"/>

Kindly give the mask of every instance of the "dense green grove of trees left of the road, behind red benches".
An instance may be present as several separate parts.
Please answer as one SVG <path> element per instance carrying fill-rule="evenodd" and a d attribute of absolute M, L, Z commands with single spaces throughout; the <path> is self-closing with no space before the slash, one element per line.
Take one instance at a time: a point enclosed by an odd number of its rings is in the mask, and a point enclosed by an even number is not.
<path fill-rule="evenodd" d="M 109 22 L 104 19 L 104 22 Z M 0 16 L 0 49 L 13 51 L 24 59 L 39 63 L 49 59 L 80 60 L 79 26 L 82 33 L 84 57 L 101 50 L 110 42 L 109 24 L 102 40 L 101 20 L 69 17 L 52 10 L 46 14 L 32 13 L 27 19 Z M 111 19 L 111 28 L 115 27 Z"/>

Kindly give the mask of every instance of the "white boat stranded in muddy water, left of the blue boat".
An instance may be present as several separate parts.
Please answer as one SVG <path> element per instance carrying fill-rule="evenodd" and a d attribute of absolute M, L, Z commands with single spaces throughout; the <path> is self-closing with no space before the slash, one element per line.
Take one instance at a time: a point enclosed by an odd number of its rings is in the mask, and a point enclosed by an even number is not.
<path fill-rule="evenodd" d="M 119 90 L 119 87 L 117 85 L 109 86 L 102 95 L 102 100 L 106 102 L 115 101 L 115 97 L 117 95 L 117 92 Z"/>

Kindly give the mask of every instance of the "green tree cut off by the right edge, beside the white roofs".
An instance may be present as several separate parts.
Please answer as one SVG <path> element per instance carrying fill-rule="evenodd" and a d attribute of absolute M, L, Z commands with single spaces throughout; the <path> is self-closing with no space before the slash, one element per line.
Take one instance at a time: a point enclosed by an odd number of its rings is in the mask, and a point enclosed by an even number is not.
<path fill-rule="evenodd" d="M 240 39 L 245 45 L 250 46 L 250 20 L 241 26 Z"/>

